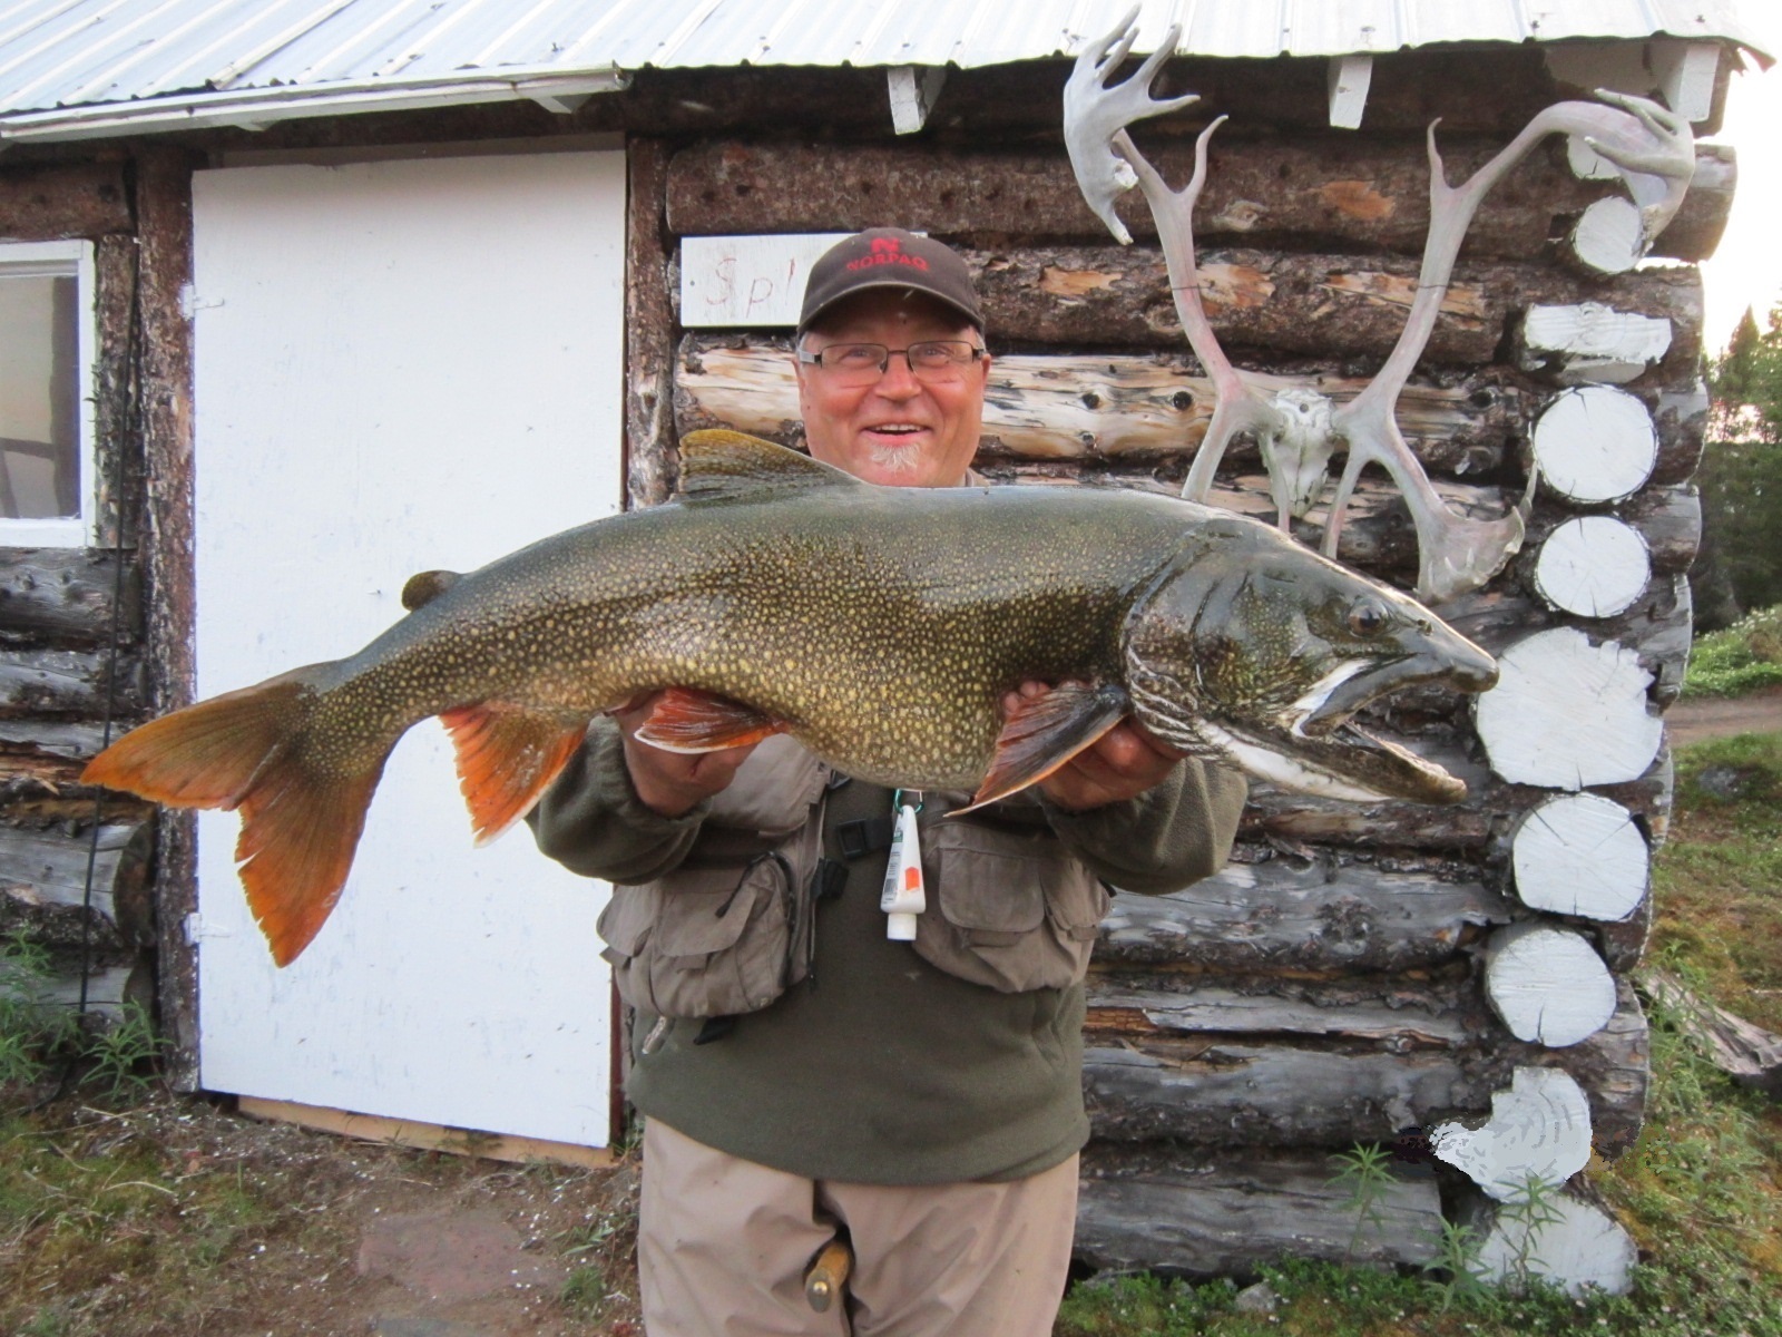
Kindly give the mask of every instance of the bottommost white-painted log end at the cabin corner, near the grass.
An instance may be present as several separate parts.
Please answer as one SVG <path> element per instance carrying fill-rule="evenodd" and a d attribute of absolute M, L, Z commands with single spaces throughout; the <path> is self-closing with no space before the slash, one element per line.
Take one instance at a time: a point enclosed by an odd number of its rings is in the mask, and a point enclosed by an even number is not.
<path fill-rule="evenodd" d="M 1479 1234 L 1474 1276 L 1515 1287 L 1527 1278 L 1541 1278 L 1565 1289 L 1574 1300 L 1590 1291 L 1623 1296 L 1634 1285 L 1639 1248 L 1620 1223 L 1600 1207 L 1568 1193 L 1554 1194 L 1550 1209 L 1557 1219 L 1534 1223 L 1515 1207 L 1484 1207 L 1470 1212 Z"/>

